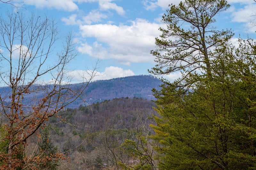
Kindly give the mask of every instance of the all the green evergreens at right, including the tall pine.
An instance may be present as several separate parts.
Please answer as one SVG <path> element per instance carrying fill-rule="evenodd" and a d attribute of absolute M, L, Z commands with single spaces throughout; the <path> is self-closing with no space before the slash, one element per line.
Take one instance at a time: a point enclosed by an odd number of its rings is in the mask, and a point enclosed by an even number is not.
<path fill-rule="evenodd" d="M 168 31 L 160 29 L 166 40 L 156 39 L 156 45 L 166 52 L 165 58 L 160 57 L 163 53 L 153 52 L 158 64 L 152 72 L 180 70 L 183 77 L 173 83 L 164 81 L 161 91 L 153 90 L 160 116 L 153 116 L 156 125 L 151 127 L 156 133 L 152 137 L 158 141 L 160 169 L 256 169 L 255 42 L 239 40 L 240 47 L 235 48 L 228 43 L 232 34 L 215 29 L 200 38 L 200 30 L 205 28 L 206 33 L 209 28 L 204 24 L 212 24 L 211 16 L 228 6 L 222 0 L 186 0 L 178 7 L 171 5 L 163 18 L 169 22 Z M 194 14 L 200 12 L 198 20 Z M 183 21 L 192 30 L 183 30 L 179 26 Z M 167 39 L 177 38 L 175 33 L 181 38 Z M 192 44 L 177 47 L 187 42 Z M 200 51 L 196 45 L 207 50 Z"/>

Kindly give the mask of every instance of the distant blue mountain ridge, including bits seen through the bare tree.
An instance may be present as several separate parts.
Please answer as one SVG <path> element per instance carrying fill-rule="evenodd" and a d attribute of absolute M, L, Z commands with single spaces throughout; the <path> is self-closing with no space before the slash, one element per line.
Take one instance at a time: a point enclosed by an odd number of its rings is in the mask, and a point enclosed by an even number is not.
<path fill-rule="evenodd" d="M 114 98 L 122 97 L 138 97 L 148 100 L 154 100 L 155 97 L 152 95 L 152 89 L 160 89 L 162 82 L 153 76 L 129 76 L 123 78 L 113 78 L 110 80 L 98 80 L 89 83 L 88 87 L 85 89 L 84 93 L 80 98 L 76 99 L 73 103 L 69 104 L 69 108 L 76 108 L 84 104 L 92 104 L 96 102 L 101 102 L 104 100 L 111 100 Z M 74 89 L 79 89 L 81 84 L 72 84 L 71 87 Z M 47 85 L 51 88 L 51 85 Z M 31 87 L 31 89 L 36 89 L 37 85 Z M 8 96 L 11 93 L 10 87 L 0 87 L 0 95 Z M 41 99 L 44 96 L 44 91 L 38 91 L 35 94 L 27 94 L 23 99 L 23 105 L 34 105 L 34 98 Z M 85 102 L 84 102 L 85 101 Z M 5 97 L 4 102 L 10 102 L 8 97 Z"/>

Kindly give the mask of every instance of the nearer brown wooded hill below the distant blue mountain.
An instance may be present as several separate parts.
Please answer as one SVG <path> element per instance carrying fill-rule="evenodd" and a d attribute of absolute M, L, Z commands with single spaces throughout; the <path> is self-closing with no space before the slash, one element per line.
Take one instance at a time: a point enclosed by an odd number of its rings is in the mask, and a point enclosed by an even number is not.
<path fill-rule="evenodd" d="M 49 165 L 58 163 L 60 169 L 70 170 L 102 169 L 104 166 L 117 169 L 121 164 L 135 165 L 140 159 L 129 152 L 131 146 L 127 145 L 131 141 L 128 140 L 142 142 L 133 147 L 140 150 L 143 146 L 152 154 L 149 141 L 143 140 L 142 136 L 152 134 L 149 124 L 154 122 L 148 116 L 156 114 L 153 106 L 150 100 L 126 97 L 61 111 L 58 115 L 62 119 L 52 117 L 48 128 L 40 131 L 51 144 L 48 148 L 57 146 L 60 152 L 67 154 L 70 162 L 48 162 Z M 28 150 L 35 145 L 33 140 L 29 141 Z M 153 155 L 148 155 L 147 160 L 152 161 L 150 166 L 155 166 Z"/>

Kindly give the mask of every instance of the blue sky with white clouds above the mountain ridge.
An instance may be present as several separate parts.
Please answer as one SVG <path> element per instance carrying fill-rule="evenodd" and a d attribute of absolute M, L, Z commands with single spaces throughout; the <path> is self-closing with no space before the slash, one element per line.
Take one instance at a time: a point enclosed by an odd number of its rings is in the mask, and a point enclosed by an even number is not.
<path fill-rule="evenodd" d="M 19 2 L 16 0 L 15 2 Z M 180 0 L 23 0 L 22 10 L 27 14 L 52 17 L 60 30 L 60 37 L 69 32 L 78 51 L 70 63 L 73 82 L 99 61 L 98 76 L 94 80 L 133 75 L 148 75 L 155 66 L 150 51 L 155 48 L 155 37 L 165 27 L 161 22 L 169 4 Z M 255 37 L 256 27 L 250 23 L 256 18 L 253 0 L 228 0 L 230 8 L 216 16 L 218 29 L 231 28 L 234 41 Z M 15 7 L 0 3 L 1 15 Z M 174 80 L 180 73 L 166 78 Z"/>

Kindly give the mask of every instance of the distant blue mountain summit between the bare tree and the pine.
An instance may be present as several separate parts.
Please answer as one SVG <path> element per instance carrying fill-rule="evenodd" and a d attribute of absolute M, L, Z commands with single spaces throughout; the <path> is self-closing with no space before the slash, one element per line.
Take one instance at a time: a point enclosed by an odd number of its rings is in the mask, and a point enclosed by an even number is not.
<path fill-rule="evenodd" d="M 88 85 L 82 98 L 87 104 L 121 97 L 154 100 L 151 90 L 152 88 L 160 89 L 161 84 L 158 78 L 146 75 L 98 80 Z M 69 107 L 74 108 L 81 104 L 84 104 L 83 100 L 77 99 Z"/>

